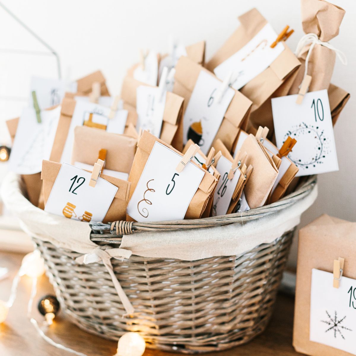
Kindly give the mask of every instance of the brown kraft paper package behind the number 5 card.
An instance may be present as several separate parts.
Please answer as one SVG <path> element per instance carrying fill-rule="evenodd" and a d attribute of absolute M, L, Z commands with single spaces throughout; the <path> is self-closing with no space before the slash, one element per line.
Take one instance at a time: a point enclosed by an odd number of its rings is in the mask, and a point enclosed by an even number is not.
<path fill-rule="evenodd" d="M 167 145 L 166 142 L 151 135 L 151 133 L 147 131 L 143 131 L 142 136 L 137 143 L 136 155 L 133 159 L 133 164 L 129 175 L 129 182 L 131 182 L 130 198 L 136 189 L 138 180 L 141 177 L 143 169 L 145 168 L 148 157 L 150 156 L 156 141 L 168 148 L 171 148 L 171 150 L 183 157 L 182 153 L 174 149 L 172 146 Z M 195 164 L 204 172 L 204 176 L 199 184 L 198 190 L 195 192 L 192 200 L 190 201 L 184 219 L 199 219 L 201 218 L 201 215 L 203 214 L 206 205 L 208 204 L 209 197 L 214 191 L 218 180 L 212 174 L 205 171 L 205 169 L 201 168 L 198 164 L 194 163 L 193 160 L 191 162 L 193 162 L 193 164 Z M 164 162 L 162 162 L 162 164 L 164 164 Z M 132 218 L 129 215 L 126 216 L 126 219 L 128 221 L 132 221 Z"/>

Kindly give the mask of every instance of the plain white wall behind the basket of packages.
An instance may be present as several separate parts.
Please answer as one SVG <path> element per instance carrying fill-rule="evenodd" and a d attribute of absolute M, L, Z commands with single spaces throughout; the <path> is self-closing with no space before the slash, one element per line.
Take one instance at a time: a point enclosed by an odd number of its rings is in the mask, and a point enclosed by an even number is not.
<path fill-rule="evenodd" d="M 351 93 L 351 100 L 335 126 L 340 171 L 319 176 L 319 197 L 303 216 L 308 223 L 322 213 L 356 220 L 355 133 L 356 89 L 355 10 L 352 0 L 334 0 L 346 10 L 339 37 L 332 44 L 346 53 L 347 67 L 336 62 L 333 83 Z M 59 53 L 63 74 L 76 79 L 96 69 L 107 78 L 111 93 L 120 93 L 126 69 L 137 62 L 139 48 L 165 52 L 168 35 L 185 44 L 207 41 L 210 56 L 235 30 L 236 17 L 257 7 L 277 32 L 287 24 L 295 33 L 288 45 L 294 49 L 303 35 L 299 0 L 3 0 L 33 31 Z M 43 50 L 0 8 L 0 49 Z M 56 75 L 52 57 L 4 54 L 0 51 L 0 144 L 8 141 L 4 120 L 19 115 L 24 103 L 1 99 L 26 96 L 30 75 Z M 295 252 L 292 253 L 292 261 Z"/>

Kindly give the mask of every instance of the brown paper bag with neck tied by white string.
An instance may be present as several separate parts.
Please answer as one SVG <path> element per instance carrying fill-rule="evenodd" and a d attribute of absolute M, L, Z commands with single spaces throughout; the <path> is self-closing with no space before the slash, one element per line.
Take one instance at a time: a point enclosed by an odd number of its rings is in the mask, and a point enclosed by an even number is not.
<path fill-rule="evenodd" d="M 339 34 L 345 10 L 323 0 L 301 0 L 302 25 L 304 32 L 315 33 L 320 41 L 328 42 Z M 298 58 L 302 66 L 289 94 L 297 94 L 305 72 L 305 58 L 310 44 L 305 46 Z M 333 75 L 336 54 L 332 49 L 316 44 L 308 61 L 308 73 L 312 76 L 309 91 L 328 89 Z"/>

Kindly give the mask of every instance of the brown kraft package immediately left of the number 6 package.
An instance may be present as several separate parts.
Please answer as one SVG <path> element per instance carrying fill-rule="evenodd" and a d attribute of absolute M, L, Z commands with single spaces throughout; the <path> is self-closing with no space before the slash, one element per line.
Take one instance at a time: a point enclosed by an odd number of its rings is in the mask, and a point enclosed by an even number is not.
<path fill-rule="evenodd" d="M 126 76 L 124 78 L 124 82 L 122 83 L 121 88 L 121 99 L 124 100 L 124 103 L 127 107 L 131 110 L 135 110 L 136 108 L 136 93 L 137 88 L 141 85 L 147 85 L 145 83 L 139 82 L 138 80 L 134 79 L 133 77 Z M 163 112 L 163 122 L 162 122 L 162 129 L 161 129 L 161 140 L 171 145 L 173 141 L 180 141 L 178 135 L 178 125 L 182 121 L 183 115 L 183 98 L 177 94 L 171 93 L 167 91 L 166 95 L 166 105 L 164 106 Z M 136 120 L 129 121 L 129 117 L 127 118 L 128 124 L 133 124 L 136 126 Z M 174 148 L 175 145 L 172 144 Z"/>

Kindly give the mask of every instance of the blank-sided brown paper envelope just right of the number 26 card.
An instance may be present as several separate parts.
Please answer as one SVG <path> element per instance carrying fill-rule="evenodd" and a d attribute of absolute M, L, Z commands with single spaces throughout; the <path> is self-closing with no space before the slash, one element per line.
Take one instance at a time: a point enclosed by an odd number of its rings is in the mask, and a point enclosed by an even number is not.
<path fill-rule="evenodd" d="M 259 208 L 266 203 L 277 178 L 278 169 L 252 134 L 248 135 L 240 151 L 247 152 L 248 163 L 253 166 L 251 177 L 244 189 L 246 200 L 251 209 Z"/>

